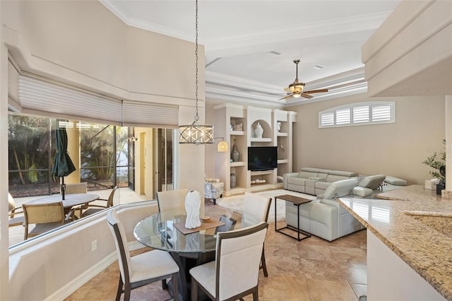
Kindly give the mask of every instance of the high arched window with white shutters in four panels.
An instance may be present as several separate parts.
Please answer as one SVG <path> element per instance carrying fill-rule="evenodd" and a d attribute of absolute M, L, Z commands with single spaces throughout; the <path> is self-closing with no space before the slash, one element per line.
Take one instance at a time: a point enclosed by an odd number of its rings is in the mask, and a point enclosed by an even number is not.
<path fill-rule="evenodd" d="M 396 122 L 395 102 L 359 102 L 319 112 L 319 128 Z"/>

